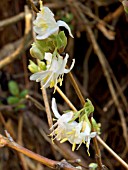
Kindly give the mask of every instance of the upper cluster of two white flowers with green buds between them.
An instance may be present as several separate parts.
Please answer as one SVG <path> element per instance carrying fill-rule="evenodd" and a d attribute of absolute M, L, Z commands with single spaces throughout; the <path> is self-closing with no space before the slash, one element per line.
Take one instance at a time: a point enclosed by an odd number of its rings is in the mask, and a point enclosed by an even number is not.
<path fill-rule="evenodd" d="M 54 14 L 48 7 L 44 7 L 40 1 L 40 11 L 33 22 L 33 30 L 37 34 L 36 41 L 33 43 L 30 53 L 34 58 L 38 59 L 38 66 L 30 61 L 28 68 L 33 75 L 30 80 L 41 82 L 45 88 L 56 87 L 57 83 L 62 85 L 64 73 L 69 73 L 74 66 L 73 59 L 69 69 L 66 69 L 69 55 L 62 57 L 60 51 L 63 52 L 67 44 L 64 32 L 59 33 L 59 27 L 65 27 L 69 35 L 73 37 L 69 26 L 64 21 L 57 21 Z M 52 52 L 52 53 L 51 53 Z M 43 62 L 43 67 L 40 67 Z"/>

